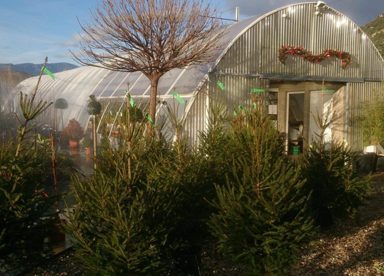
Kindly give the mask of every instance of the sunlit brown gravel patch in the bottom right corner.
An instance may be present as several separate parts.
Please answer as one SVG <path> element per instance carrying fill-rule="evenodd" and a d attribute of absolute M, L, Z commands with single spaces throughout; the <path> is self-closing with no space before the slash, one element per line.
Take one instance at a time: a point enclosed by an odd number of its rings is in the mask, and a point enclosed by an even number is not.
<path fill-rule="evenodd" d="M 288 276 L 384 275 L 373 260 L 384 261 L 384 174 L 376 173 L 372 194 L 354 218 L 337 220 L 307 246 Z M 384 266 L 383 266 L 384 267 Z"/>

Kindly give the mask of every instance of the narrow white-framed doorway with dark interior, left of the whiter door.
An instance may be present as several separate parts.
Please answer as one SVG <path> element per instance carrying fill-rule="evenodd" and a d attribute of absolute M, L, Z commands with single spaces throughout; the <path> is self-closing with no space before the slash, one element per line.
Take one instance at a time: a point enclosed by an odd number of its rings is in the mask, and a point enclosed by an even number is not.
<path fill-rule="evenodd" d="M 287 152 L 303 151 L 304 92 L 288 92 L 287 97 Z"/>

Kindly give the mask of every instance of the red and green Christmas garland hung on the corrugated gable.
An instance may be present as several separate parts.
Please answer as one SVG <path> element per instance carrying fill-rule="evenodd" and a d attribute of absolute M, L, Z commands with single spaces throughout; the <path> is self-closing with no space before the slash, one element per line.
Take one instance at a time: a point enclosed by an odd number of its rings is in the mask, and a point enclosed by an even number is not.
<path fill-rule="evenodd" d="M 330 57 L 336 57 L 341 59 L 341 67 L 347 68 L 348 65 L 352 63 L 351 54 L 348 52 L 343 52 L 339 50 L 324 50 L 319 55 L 312 55 L 311 52 L 307 51 L 304 47 L 293 47 L 293 46 L 282 46 L 279 50 L 279 62 L 282 64 L 286 63 L 286 59 L 288 55 L 292 56 L 301 56 L 303 59 L 308 61 L 309 63 L 320 63 L 325 59 Z"/>

